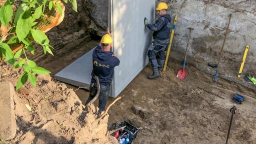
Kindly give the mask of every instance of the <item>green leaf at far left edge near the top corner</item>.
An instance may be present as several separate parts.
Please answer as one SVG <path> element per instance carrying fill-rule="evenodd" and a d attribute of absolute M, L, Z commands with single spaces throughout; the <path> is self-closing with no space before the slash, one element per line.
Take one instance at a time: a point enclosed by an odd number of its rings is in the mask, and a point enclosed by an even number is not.
<path fill-rule="evenodd" d="M 6 3 L 9 3 L 9 2 L 6 2 Z M 11 4 L 6 4 L 6 3 L 2 5 L 0 8 L 0 21 L 5 27 L 7 27 L 7 24 L 9 23 L 13 13 Z"/>

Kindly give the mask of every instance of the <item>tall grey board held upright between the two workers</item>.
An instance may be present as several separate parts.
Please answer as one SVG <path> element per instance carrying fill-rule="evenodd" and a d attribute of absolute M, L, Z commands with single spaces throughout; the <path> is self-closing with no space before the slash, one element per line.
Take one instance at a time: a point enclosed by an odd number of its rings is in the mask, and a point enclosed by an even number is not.
<path fill-rule="evenodd" d="M 155 0 L 111 0 L 110 8 L 113 52 L 120 59 L 113 78 L 116 97 L 148 63 L 152 32 L 144 26 L 144 17 L 154 22 Z"/>

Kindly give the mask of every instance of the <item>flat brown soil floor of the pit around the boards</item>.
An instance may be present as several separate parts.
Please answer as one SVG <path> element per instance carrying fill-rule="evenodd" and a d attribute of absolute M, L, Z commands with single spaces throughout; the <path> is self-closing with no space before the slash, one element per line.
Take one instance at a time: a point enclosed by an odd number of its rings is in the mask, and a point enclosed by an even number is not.
<path fill-rule="evenodd" d="M 62 58 L 58 56 L 52 61 L 54 64 L 48 61 L 41 66 L 58 72 L 55 69 L 67 65 L 62 60 L 73 61 L 79 57 L 76 53 L 85 53 L 93 44 L 97 41 L 91 40 Z M 126 120 L 140 128 L 134 143 L 224 143 L 233 104 L 231 97 L 239 93 L 246 100 L 237 105 L 229 143 L 256 143 L 255 90 L 220 78 L 213 83 L 212 75 L 191 66 L 186 67 L 188 76 L 181 81 L 175 77 L 180 68 L 180 62 L 169 61 L 160 78 L 149 80 L 151 68 L 147 65 L 120 93 L 124 97 L 110 108 L 108 124 Z M 77 87 L 68 84 L 67 87 L 73 88 L 85 102 L 87 90 L 76 90 Z M 109 97 L 108 103 L 113 100 Z M 151 114 L 142 118 L 132 112 L 132 105 L 147 108 Z"/>

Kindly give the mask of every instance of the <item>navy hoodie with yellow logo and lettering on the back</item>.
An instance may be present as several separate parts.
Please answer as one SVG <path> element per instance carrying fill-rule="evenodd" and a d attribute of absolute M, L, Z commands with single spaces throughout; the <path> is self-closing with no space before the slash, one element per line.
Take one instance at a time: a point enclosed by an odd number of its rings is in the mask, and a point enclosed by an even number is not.
<path fill-rule="evenodd" d="M 92 53 L 91 82 L 96 82 L 94 76 L 97 76 L 99 83 L 103 85 L 108 85 L 112 81 L 114 66 L 120 63 L 119 59 L 112 54 L 112 51 L 103 51 L 100 44 L 96 46 Z"/>

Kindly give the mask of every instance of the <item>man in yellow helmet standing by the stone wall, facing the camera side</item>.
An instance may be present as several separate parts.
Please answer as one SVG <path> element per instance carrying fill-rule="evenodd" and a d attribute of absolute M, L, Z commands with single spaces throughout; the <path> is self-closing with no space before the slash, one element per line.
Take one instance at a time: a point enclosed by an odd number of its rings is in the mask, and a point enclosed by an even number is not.
<path fill-rule="evenodd" d="M 156 7 L 157 15 L 160 17 L 154 24 L 147 23 L 147 18 L 144 18 L 144 24 L 150 30 L 153 30 L 153 41 L 148 47 L 147 56 L 151 63 L 153 74 L 148 75 L 149 79 L 160 76 L 162 66 L 164 64 L 165 49 L 168 46 L 170 38 L 171 17 L 166 13 L 168 6 L 164 2 L 160 2 Z"/>

